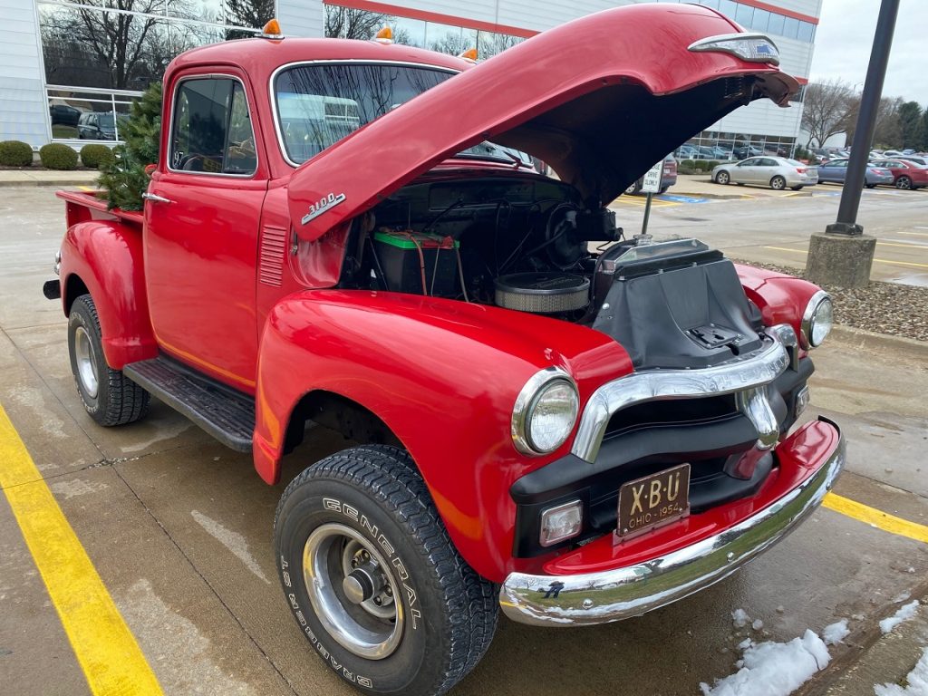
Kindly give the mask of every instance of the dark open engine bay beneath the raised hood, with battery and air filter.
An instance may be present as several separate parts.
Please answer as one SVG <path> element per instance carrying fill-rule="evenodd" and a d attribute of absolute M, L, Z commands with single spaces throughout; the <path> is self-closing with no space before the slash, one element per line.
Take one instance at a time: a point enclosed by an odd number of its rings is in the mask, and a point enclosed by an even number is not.
<path fill-rule="evenodd" d="M 359 221 L 343 285 L 578 320 L 615 215 L 534 174 L 419 180 Z"/>

